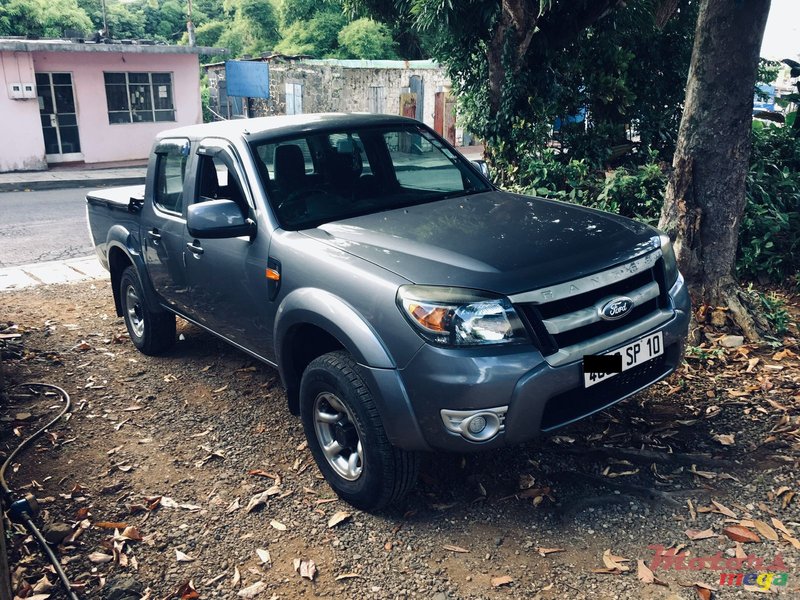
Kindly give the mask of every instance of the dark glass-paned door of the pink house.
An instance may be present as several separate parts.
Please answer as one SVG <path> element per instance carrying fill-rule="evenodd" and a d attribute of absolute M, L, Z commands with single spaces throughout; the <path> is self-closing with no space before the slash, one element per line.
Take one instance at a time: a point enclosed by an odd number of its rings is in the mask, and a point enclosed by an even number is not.
<path fill-rule="evenodd" d="M 36 92 L 47 162 L 83 160 L 70 73 L 37 73 Z"/>

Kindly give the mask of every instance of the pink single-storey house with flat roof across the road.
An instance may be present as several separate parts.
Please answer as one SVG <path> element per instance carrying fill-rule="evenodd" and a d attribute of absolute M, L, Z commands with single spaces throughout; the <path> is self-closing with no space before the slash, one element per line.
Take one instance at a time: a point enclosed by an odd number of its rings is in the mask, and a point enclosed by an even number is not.
<path fill-rule="evenodd" d="M 217 48 L 0 39 L 0 172 L 146 158 L 200 123 L 199 55 Z"/>

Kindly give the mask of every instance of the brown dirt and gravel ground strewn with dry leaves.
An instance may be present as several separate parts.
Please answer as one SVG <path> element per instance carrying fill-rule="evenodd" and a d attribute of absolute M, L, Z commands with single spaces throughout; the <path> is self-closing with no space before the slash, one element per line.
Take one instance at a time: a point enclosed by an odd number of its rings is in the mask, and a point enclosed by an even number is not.
<path fill-rule="evenodd" d="M 8 479 L 46 531 L 69 526 L 56 552 L 82 598 L 800 598 L 796 325 L 760 347 L 711 336 L 667 381 L 535 444 L 428 456 L 381 515 L 332 494 L 273 369 L 178 331 L 168 355 L 139 354 L 106 282 L 0 294 L 0 450 L 59 405 L 13 384 L 72 399 Z M 17 595 L 63 598 L 31 538 L 8 540 Z M 680 554 L 666 568 L 651 546 Z"/>

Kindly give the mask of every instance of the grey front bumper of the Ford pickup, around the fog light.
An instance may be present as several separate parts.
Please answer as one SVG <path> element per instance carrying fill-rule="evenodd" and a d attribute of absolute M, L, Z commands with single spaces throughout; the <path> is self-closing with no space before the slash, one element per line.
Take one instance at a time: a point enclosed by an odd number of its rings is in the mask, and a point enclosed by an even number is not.
<path fill-rule="evenodd" d="M 584 389 L 581 360 L 551 366 L 530 346 L 450 349 L 426 344 L 396 372 L 403 388 L 404 408 L 415 417 L 411 419 L 414 427 L 401 429 L 395 426 L 399 421 L 394 421 L 385 423 L 387 433 L 394 444 L 407 449 L 472 452 L 520 444 L 603 410 L 663 379 L 680 365 L 690 316 L 689 295 L 682 278 L 670 290 L 670 303 L 672 317 L 668 321 L 601 350 L 612 350 L 661 331 L 664 354 L 589 389 Z M 392 390 L 390 395 L 396 394 L 397 390 Z M 441 412 L 497 407 L 507 407 L 503 428 L 491 439 L 479 442 L 448 428 Z M 407 419 L 402 420 L 408 424 Z"/>

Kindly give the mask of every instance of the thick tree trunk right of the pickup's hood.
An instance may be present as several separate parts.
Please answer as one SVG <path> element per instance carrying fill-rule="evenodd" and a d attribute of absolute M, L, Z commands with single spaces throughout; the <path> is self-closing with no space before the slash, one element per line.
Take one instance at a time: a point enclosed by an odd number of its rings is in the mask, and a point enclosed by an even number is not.
<path fill-rule="evenodd" d="M 753 85 L 770 0 L 702 0 L 673 174 L 659 227 L 701 304 L 722 306 L 749 339 L 760 325 L 733 276 L 750 160 Z"/>

